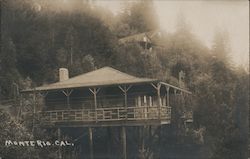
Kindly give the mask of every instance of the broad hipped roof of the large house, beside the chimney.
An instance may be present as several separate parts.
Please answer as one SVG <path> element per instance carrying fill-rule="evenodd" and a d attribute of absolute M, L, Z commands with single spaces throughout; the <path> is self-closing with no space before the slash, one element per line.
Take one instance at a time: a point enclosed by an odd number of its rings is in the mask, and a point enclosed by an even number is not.
<path fill-rule="evenodd" d="M 148 83 L 156 82 L 157 79 L 138 78 L 128 75 L 121 71 L 118 71 L 111 67 L 103 67 L 85 74 L 81 74 L 68 80 L 36 87 L 35 89 L 24 90 L 29 91 L 46 91 L 46 90 L 58 90 L 67 88 L 79 88 L 79 87 L 95 87 L 95 86 L 108 86 L 119 84 L 136 84 L 136 83 Z"/>

